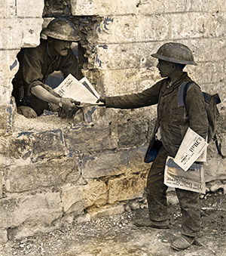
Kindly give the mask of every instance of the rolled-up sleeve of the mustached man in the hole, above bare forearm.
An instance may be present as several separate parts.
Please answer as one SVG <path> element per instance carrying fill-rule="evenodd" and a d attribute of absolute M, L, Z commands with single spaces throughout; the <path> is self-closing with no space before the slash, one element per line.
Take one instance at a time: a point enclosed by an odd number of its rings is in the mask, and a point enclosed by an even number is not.
<path fill-rule="evenodd" d="M 37 48 L 26 49 L 23 57 L 23 79 L 26 84 L 27 94 L 36 85 L 43 86 L 43 74 L 41 72 L 41 57 Z"/>

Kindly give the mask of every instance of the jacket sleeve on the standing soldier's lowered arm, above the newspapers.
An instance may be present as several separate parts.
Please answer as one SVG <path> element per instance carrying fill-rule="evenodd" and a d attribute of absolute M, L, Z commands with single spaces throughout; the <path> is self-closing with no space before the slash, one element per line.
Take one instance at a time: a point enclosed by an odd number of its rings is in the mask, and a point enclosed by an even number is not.
<path fill-rule="evenodd" d="M 185 106 L 188 112 L 189 127 L 206 139 L 209 122 L 206 115 L 203 94 L 197 85 L 188 88 Z"/>

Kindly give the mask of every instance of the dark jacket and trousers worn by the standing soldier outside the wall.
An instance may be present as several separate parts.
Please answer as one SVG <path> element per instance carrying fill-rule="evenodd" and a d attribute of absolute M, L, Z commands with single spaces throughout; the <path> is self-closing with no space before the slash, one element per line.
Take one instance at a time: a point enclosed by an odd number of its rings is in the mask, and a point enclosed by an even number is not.
<path fill-rule="evenodd" d="M 167 205 L 166 190 L 163 184 L 163 174 L 167 156 L 176 156 L 188 126 L 206 138 L 208 119 L 204 109 L 202 92 L 198 85 L 191 85 L 185 98 L 185 106 L 178 106 L 179 85 L 189 82 L 187 73 L 170 85 L 169 79 L 157 82 L 151 88 L 138 94 L 116 97 L 105 97 L 107 107 L 132 109 L 157 104 L 157 122 L 154 134 L 160 127 L 161 141 L 163 143 L 157 158 L 151 165 L 147 180 L 147 197 L 149 216 L 151 221 L 166 221 Z M 176 189 L 182 208 L 182 233 L 187 236 L 196 236 L 200 230 L 199 194 L 188 190 Z"/>

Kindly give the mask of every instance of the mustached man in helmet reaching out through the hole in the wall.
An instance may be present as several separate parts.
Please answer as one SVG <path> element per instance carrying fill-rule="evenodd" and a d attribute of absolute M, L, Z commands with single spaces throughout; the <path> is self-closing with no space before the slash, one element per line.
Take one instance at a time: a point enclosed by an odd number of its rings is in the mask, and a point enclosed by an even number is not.
<path fill-rule="evenodd" d="M 47 40 L 41 39 L 36 48 L 24 48 L 18 54 L 20 68 L 14 77 L 14 90 L 17 112 L 26 117 L 40 116 L 44 109 L 78 109 L 71 98 L 60 97 L 44 82 L 53 71 L 62 71 L 66 77 L 71 73 L 77 79 L 82 78 L 78 58 L 71 50 L 72 42 L 80 37 L 75 25 L 66 19 L 57 18 L 43 29 Z"/>

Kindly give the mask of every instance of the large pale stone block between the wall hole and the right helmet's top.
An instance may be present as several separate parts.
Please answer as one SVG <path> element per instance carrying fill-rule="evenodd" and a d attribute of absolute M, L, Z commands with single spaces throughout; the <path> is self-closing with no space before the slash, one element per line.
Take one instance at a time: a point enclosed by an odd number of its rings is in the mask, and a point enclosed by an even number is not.
<path fill-rule="evenodd" d="M 108 22 L 107 29 L 103 22 L 96 26 L 99 45 L 162 41 L 169 40 L 171 35 L 171 19 L 168 14 L 114 16 Z"/>

